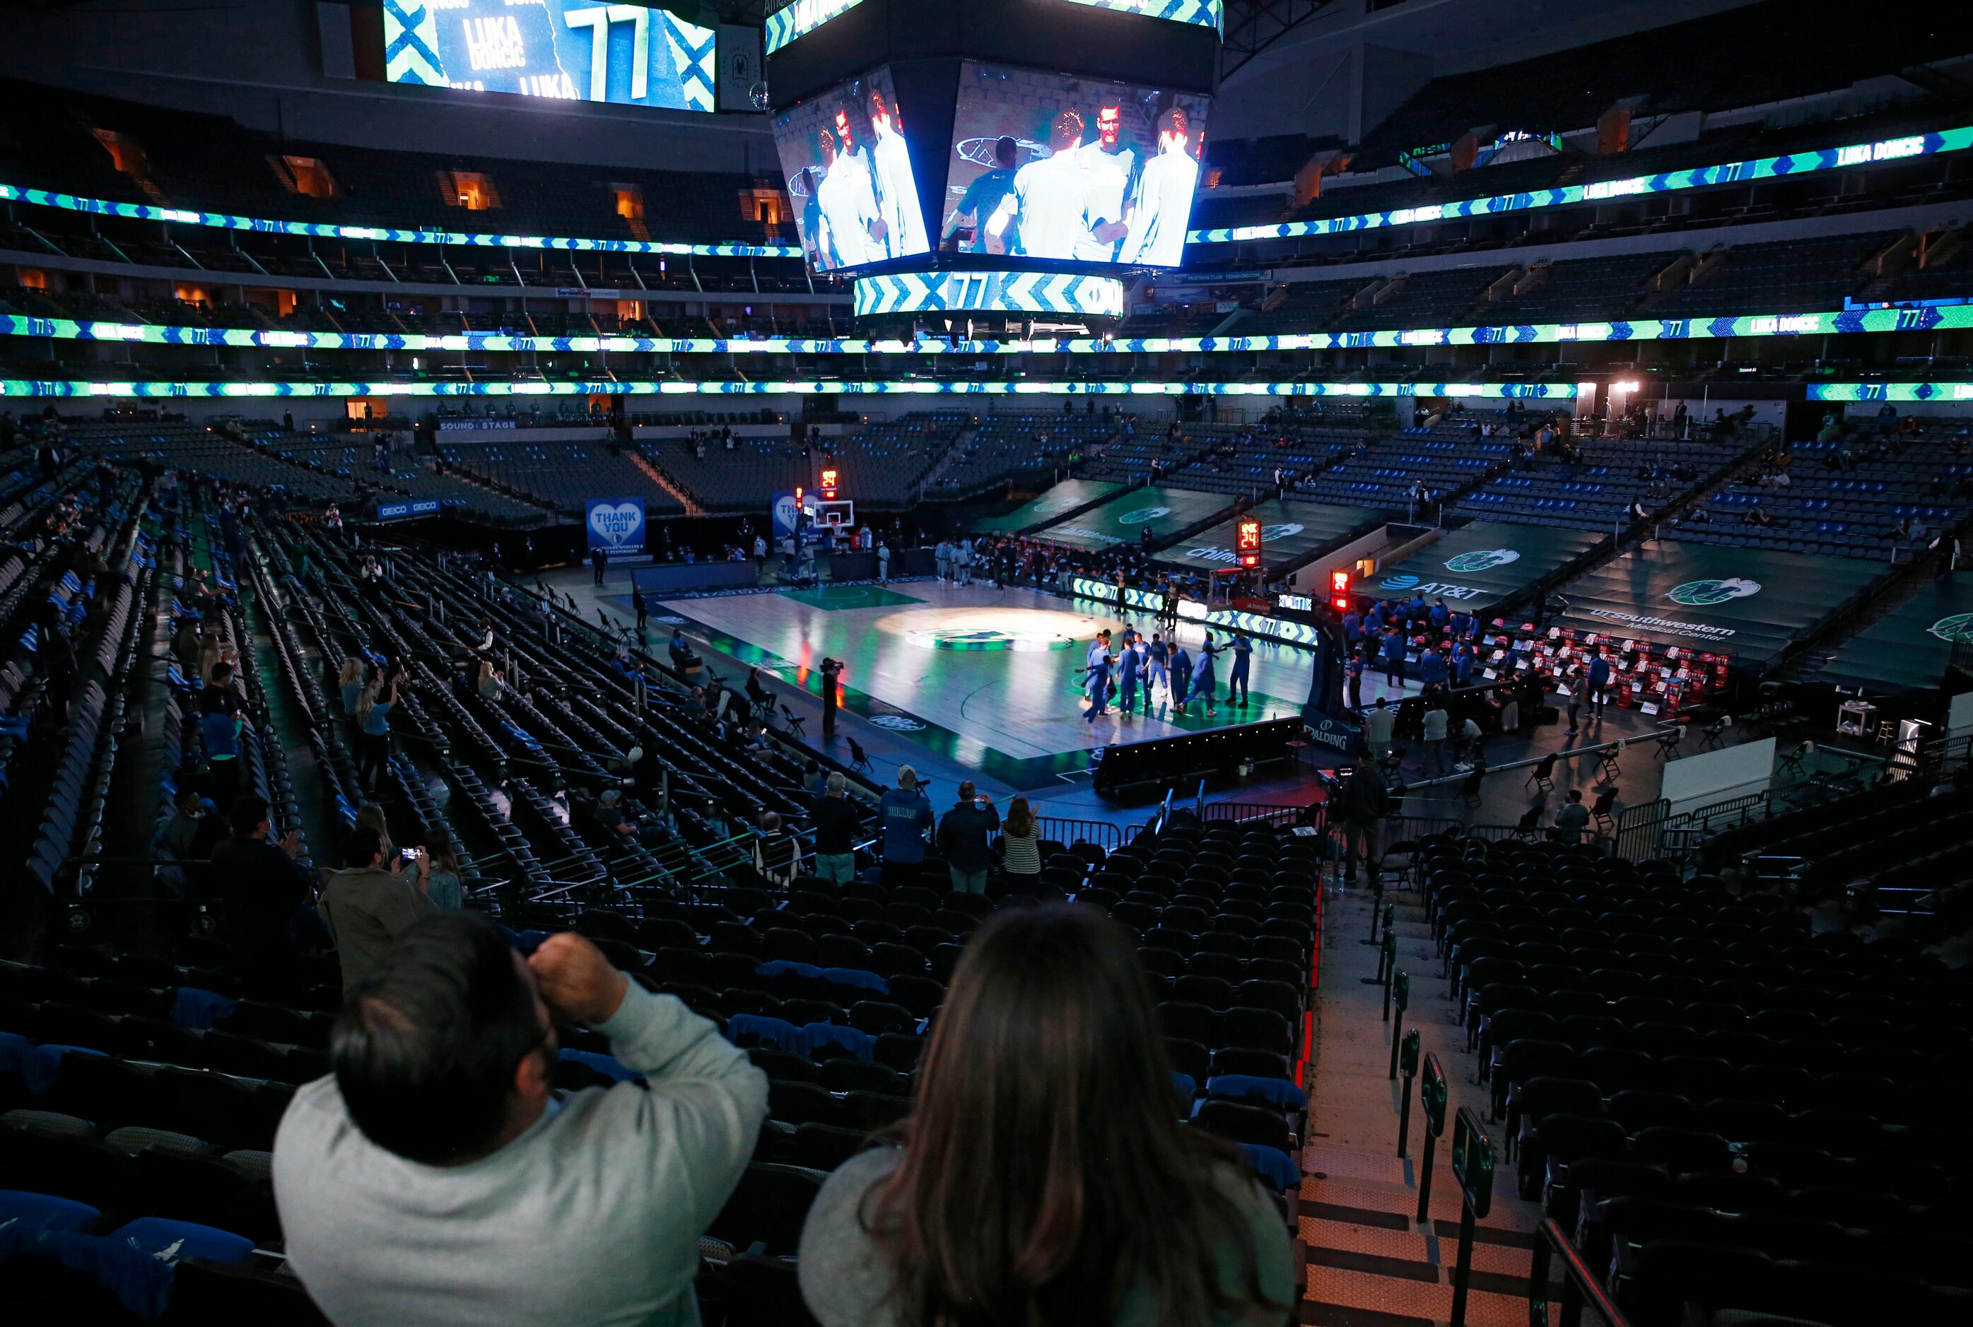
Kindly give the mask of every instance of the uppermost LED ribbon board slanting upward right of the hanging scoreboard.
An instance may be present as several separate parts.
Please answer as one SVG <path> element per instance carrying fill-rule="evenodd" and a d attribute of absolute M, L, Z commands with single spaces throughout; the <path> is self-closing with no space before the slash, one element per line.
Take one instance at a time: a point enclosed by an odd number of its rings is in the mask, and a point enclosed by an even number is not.
<path fill-rule="evenodd" d="M 1973 126 L 1943 128 L 1932 134 L 1863 142 L 1851 148 L 1790 152 L 1786 156 L 1764 156 L 1752 162 L 1724 162 L 1720 166 L 1675 170 L 1661 175 L 1632 175 L 1630 179 L 1572 183 L 1563 185 L 1561 189 L 1496 193 L 1494 197 L 1464 199 L 1460 203 L 1430 203 L 1426 207 L 1401 207 L 1397 211 L 1363 213 L 1357 217 L 1322 217 L 1318 221 L 1284 221 L 1280 225 L 1213 227 L 1206 231 L 1192 231 L 1186 239 L 1192 244 L 1231 244 L 1239 241 L 1273 241 L 1296 239 L 1302 235 L 1375 231 L 1379 227 L 1419 225 L 1423 221 L 1456 221 L 1460 217 L 1492 217 L 1509 211 L 1569 207 L 1572 203 L 1602 203 L 1638 193 L 1673 193 L 1677 189 L 1703 189 L 1717 183 L 1744 183 L 1748 179 L 1774 179 L 1780 175 L 1809 175 L 1823 170 L 1841 170 L 1845 166 L 1870 166 L 1872 162 L 1896 162 L 1912 156 L 1961 152 L 1969 146 L 1973 146 Z"/>

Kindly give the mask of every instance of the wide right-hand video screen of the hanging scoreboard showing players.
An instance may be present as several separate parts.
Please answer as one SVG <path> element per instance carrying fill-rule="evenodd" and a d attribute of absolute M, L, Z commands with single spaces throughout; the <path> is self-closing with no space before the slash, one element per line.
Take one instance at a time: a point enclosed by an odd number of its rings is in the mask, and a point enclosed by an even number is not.
<path fill-rule="evenodd" d="M 967 61 L 939 244 L 1178 266 L 1209 97 Z"/>

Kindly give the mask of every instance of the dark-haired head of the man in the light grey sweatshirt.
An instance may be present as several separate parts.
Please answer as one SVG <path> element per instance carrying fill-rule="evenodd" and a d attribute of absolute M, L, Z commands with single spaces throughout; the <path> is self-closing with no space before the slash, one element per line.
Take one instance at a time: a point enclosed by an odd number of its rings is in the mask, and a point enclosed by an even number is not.
<path fill-rule="evenodd" d="M 547 1037 L 499 929 L 477 913 L 438 913 L 349 990 L 329 1067 L 365 1138 L 438 1165 L 499 1136 L 513 1069 Z"/>

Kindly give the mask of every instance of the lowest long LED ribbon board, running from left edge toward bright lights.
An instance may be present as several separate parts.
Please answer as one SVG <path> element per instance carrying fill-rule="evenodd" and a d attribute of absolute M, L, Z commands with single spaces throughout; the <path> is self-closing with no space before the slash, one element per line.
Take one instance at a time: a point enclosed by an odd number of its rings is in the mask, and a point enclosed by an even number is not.
<path fill-rule="evenodd" d="M 1523 396 L 1567 400 L 1574 383 L 81 383 L 0 379 L 0 396 Z"/>

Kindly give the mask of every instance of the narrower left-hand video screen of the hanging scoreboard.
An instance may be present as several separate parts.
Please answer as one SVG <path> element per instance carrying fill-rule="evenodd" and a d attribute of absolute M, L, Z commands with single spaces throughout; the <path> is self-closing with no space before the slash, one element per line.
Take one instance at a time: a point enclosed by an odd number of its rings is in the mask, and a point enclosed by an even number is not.
<path fill-rule="evenodd" d="M 817 272 L 931 248 L 906 126 L 890 69 L 840 83 L 773 118 L 801 250 Z"/>

